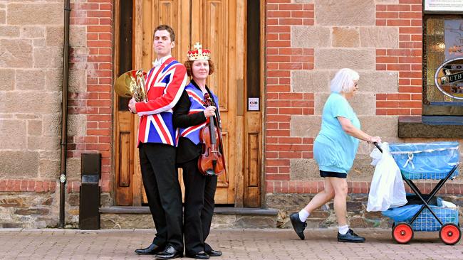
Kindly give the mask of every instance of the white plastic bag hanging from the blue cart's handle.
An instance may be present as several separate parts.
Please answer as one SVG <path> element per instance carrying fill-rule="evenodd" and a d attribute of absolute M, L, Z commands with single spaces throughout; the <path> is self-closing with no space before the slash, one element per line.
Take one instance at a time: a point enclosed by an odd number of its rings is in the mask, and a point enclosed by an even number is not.
<path fill-rule="evenodd" d="M 389 145 L 382 143 L 381 148 L 383 153 L 378 148 L 370 153 L 373 158 L 371 164 L 376 168 L 368 194 L 367 211 L 384 211 L 407 204 L 402 175 L 390 155 Z"/>

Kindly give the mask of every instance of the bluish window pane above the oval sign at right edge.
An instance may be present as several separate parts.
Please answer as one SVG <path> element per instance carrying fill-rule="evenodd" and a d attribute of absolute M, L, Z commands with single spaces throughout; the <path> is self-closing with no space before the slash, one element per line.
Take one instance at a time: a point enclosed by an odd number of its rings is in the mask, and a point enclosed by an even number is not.
<path fill-rule="evenodd" d="M 445 60 L 463 58 L 463 20 L 444 21 Z"/>

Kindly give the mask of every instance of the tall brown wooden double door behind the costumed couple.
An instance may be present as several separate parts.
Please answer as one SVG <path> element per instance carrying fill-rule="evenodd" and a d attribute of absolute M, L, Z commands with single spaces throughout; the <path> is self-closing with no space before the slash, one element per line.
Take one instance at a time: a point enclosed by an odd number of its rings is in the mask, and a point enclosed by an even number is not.
<path fill-rule="evenodd" d="M 244 31 L 244 2 L 240 0 L 133 0 L 134 1 L 134 37 L 133 37 L 133 67 L 149 70 L 155 53 L 152 50 L 153 29 L 159 24 L 172 26 L 176 33 L 175 48 L 172 55 L 181 63 L 186 60 L 187 50 L 200 42 L 203 48 L 212 52 L 215 72 L 209 77 L 207 85 L 219 97 L 220 113 L 222 117 L 222 137 L 224 140 L 224 153 L 227 159 L 227 175 L 219 176 L 217 184 L 216 203 L 234 204 L 242 206 L 245 194 L 244 168 L 247 138 L 245 129 L 246 112 L 244 106 L 244 60 L 245 60 L 245 31 Z M 125 169 L 129 173 L 130 185 L 125 190 L 116 184 L 116 194 L 132 193 L 131 205 L 141 205 L 146 202 L 143 196 L 140 163 L 137 149 L 128 146 L 134 145 L 133 140 L 137 133 L 137 116 L 126 119 L 125 128 L 120 117 L 116 129 L 131 129 L 130 140 L 116 138 L 116 158 L 121 154 L 129 156 L 132 166 Z M 129 122 L 130 121 L 130 125 Z M 120 136 L 122 132 L 115 133 Z M 246 140 L 245 140 L 246 139 Z M 125 145 L 123 146 L 123 141 Z M 259 141 L 260 142 L 260 141 Z M 130 151 L 126 153 L 123 149 Z M 258 156 L 251 156 L 255 160 Z M 122 158 L 121 158 L 122 160 Z M 116 160 L 116 170 L 120 170 L 123 163 Z M 247 168 L 247 167 L 246 167 Z M 260 170 L 256 172 L 260 178 Z M 117 173 L 120 176 L 120 173 Z M 116 176 L 116 183 L 119 177 Z M 259 187 L 260 189 L 260 187 Z"/>

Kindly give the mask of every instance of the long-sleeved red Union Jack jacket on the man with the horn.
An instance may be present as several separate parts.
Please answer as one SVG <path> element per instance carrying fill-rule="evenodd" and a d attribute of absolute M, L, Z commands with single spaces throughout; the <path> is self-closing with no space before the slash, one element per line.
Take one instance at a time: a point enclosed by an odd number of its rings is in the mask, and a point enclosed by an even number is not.
<path fill-rule="evenodd" d="M 137 102 L 140 116 L 137 147 L 140 143 L 165 143 L 177 146 L 176 129 L 172 124 L 172 108 L 177 104 L 187 83 L 187 70 L 174 58 L 147 73 L 147 102 Z"/>

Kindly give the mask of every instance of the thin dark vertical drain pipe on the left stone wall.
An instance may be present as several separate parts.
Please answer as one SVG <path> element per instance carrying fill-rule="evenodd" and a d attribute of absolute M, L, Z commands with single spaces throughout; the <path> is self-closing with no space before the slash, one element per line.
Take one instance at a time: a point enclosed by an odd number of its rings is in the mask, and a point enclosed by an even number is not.
<path fill-rule="evenodd" d="M 63 43 L 63 99 L 61 100 L 61 175 L 60 175 L 60 222 L 64 228 L 64 205 L 66 202 L 66 159 L 68 151 L 68 85 L 69 85 L 69 13 L 70 0 L 64 1 L 64 43 Z"/>

